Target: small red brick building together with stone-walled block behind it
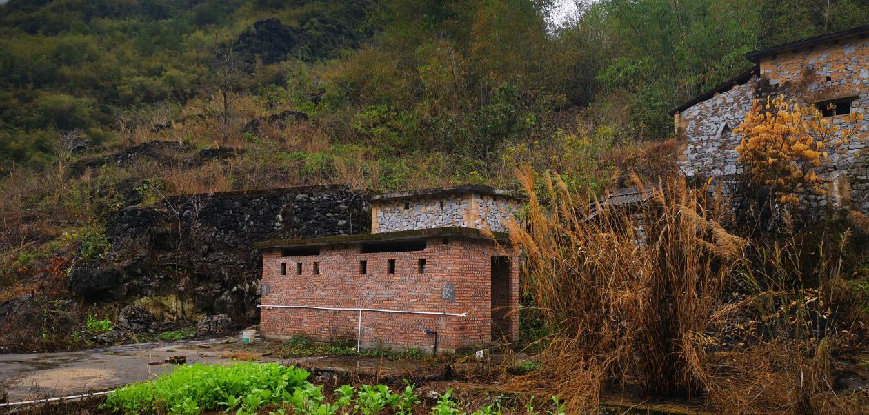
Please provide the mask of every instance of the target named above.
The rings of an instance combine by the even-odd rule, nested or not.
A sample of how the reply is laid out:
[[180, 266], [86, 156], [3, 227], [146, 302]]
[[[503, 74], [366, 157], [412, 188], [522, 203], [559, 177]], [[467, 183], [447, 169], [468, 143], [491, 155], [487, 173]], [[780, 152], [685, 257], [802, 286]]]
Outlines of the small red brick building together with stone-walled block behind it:
[[518, 250], [503, 232], [514, 196], [461, 186], [371, 205], [371, 234], [255, 244], [263, 336], [429, 351], [516, 339]]

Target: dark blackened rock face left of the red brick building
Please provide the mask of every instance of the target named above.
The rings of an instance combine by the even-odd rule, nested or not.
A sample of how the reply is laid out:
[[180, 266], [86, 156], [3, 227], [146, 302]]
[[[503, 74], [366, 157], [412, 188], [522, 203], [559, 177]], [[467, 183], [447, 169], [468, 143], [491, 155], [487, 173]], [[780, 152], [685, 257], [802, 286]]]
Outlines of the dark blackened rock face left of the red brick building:
[[368, 232], [365, 197], [340, 186], [280, 188], [168, 198], [106, 218], [111, 248], [79, 260], [67, 287], [89, 301], [173, 294], [196, 313], [256, 318], [259, 240]]

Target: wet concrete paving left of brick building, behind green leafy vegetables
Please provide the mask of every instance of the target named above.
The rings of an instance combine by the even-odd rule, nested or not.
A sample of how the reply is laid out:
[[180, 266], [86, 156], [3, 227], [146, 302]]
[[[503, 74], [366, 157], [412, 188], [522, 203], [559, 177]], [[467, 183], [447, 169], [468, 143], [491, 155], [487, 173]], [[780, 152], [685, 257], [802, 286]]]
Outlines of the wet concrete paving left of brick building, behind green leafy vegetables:
[[112, 346], [76, 352], [0, 354], [0, 388], [10, 402], [104, 391], [130, 382], [154, 379], [175, 365], [149, 365], [184, 355], [188, 364], [231, 361], [225, 350], [200, 348], [237, 339], [208, 339]]

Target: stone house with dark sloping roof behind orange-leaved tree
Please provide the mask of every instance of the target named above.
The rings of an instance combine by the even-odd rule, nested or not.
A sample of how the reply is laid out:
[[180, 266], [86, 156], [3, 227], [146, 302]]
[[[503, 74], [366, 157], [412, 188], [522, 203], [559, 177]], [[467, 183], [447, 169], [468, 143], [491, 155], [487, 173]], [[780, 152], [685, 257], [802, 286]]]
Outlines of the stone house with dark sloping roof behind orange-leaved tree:
[[754, 99], [784, 91], [783, 86], [799, 88], [789, 96], [816, 105], [840, 128], [855, 131], [817, 172], [826, 178], [826, 194], [806, 194], [805, 198], [812, 208], [832, 205], [869, 212], [869, 118], [852, 125], [844, 117], [869, 109], [867, 35], [869, 26], [862, 26], [749, 52], [746, 57], [754, 63], [752, 69], [671, 111], [677, 133], [684, 134], [677, 148], [681, 171], [734, 183], [743, 172], [736, 152], [740, 136], [733, 129], [739, 127]]

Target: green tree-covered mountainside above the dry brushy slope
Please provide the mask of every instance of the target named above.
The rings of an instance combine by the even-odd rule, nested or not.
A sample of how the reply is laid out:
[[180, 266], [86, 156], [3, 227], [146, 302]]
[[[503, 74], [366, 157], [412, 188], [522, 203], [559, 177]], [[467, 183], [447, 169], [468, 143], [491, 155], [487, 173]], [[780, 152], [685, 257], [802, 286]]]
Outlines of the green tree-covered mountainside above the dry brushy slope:
[[[667, 109], [745, 69], [746, 51], [869, 15], [859, 0], [578, 3], [552, 27], [547, 0], [12, 0], [0, 162], [56, 161], [70, 131], [86, 151], [123, 147], [185, 115], [221, 131], [137, 140], [238, 144], [249, 119], [291, 110], [328, 138], [315, 154], [425, 152], [487, 180], [546, 153], [533, 143], [557, 157], [576, 134], [667, 139]], [[556, 166], [573, 167], [541, 164]]]

